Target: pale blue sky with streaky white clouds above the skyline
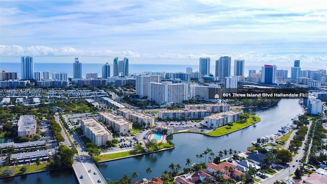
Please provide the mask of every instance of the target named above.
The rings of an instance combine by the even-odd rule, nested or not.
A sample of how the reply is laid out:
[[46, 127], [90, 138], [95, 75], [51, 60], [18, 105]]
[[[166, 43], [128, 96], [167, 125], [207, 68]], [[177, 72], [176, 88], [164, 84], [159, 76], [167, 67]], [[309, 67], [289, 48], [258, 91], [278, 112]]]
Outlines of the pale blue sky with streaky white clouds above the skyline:
[[36, 62], [197, 64], [230, 56], [251, 65], [327, 65], [322, 0], [2, 0], [0, 12], [2, 62], [31, 55]]

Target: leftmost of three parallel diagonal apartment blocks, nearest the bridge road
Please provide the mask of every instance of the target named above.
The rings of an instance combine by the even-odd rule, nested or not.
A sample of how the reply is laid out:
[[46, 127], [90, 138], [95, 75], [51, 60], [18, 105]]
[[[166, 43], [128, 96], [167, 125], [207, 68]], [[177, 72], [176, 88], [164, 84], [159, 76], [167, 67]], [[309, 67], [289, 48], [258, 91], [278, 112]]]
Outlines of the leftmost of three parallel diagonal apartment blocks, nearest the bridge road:
[[103, 146], [111, 141], [112, 133], [99, 121], [92, 118], [83, 118], [81, 128], [88, 139], [97, 146]]

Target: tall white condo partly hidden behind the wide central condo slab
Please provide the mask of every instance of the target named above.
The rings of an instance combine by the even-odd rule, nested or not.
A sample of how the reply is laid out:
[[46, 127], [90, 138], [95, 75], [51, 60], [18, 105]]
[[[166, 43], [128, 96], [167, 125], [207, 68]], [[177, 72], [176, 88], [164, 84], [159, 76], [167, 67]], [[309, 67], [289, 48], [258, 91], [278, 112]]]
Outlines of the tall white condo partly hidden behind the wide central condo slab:
[[138, 75], [136, 76], [136, 95], [147, 97], [149, 95], [149, 82], [161, 82], [161, 75]]

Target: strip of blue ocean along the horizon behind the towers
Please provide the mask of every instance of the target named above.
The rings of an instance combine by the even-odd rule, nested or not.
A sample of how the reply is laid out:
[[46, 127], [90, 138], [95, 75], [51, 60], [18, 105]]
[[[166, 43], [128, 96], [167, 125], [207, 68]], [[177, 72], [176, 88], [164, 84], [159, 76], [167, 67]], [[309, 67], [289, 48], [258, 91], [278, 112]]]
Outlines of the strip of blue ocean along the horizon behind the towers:
[[[85, 78], [86, 73], [98, 73], [98, 77], [102, 76], [103, 63], [82, 63], [82, 78]], [[143, 72], [186, 72], [187, 67], [192, 67], [193, 72], [199, 71], [199, 65], [194, 64], [131, 64], [129, 63], [129, 74], [139, 74]], [[249, 66], [245, 65], [244, 75], [248, 76], [249, 70], [261, 71], [262, 66]], [[230, 74], [233, 75], [233, 65], [231, 65]], [[215, 75], [215, 65], [210, 66], [211, 74]], [[302, 70], [319, 70], [320, 67], [301, 67]], [[18, 78], [20, 78], [20, 63], [19, 62], [0, 62], [0, 71], [17, 72]], [[288, 70], [288, 77], [291, 76], [291, 66], [277, 66], [277, 70]], [[45, 63], [34, 62], [34, 71], [41, 72], [41, 78], [43, 77], [43, 71], [49, 71], [50, 79], [54, 72], [67, 73], [68, 77], [73, 77], [73, 63]], [[110, 75], [113, 74], [112, 63], [110, 63]]]

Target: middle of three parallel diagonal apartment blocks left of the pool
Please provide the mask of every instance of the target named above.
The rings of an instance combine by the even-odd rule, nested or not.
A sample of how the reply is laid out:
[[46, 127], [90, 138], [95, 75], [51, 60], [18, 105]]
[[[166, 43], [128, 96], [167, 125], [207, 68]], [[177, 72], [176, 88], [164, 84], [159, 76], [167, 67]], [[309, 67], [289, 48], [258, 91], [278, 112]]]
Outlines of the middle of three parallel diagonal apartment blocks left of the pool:
[[128, 131], [133, 128], [133, 124], [124, 119], [124, 117], [116, 116], [110, 112], [99, 112], [99, 120], [122, 135], [127, 135]]

